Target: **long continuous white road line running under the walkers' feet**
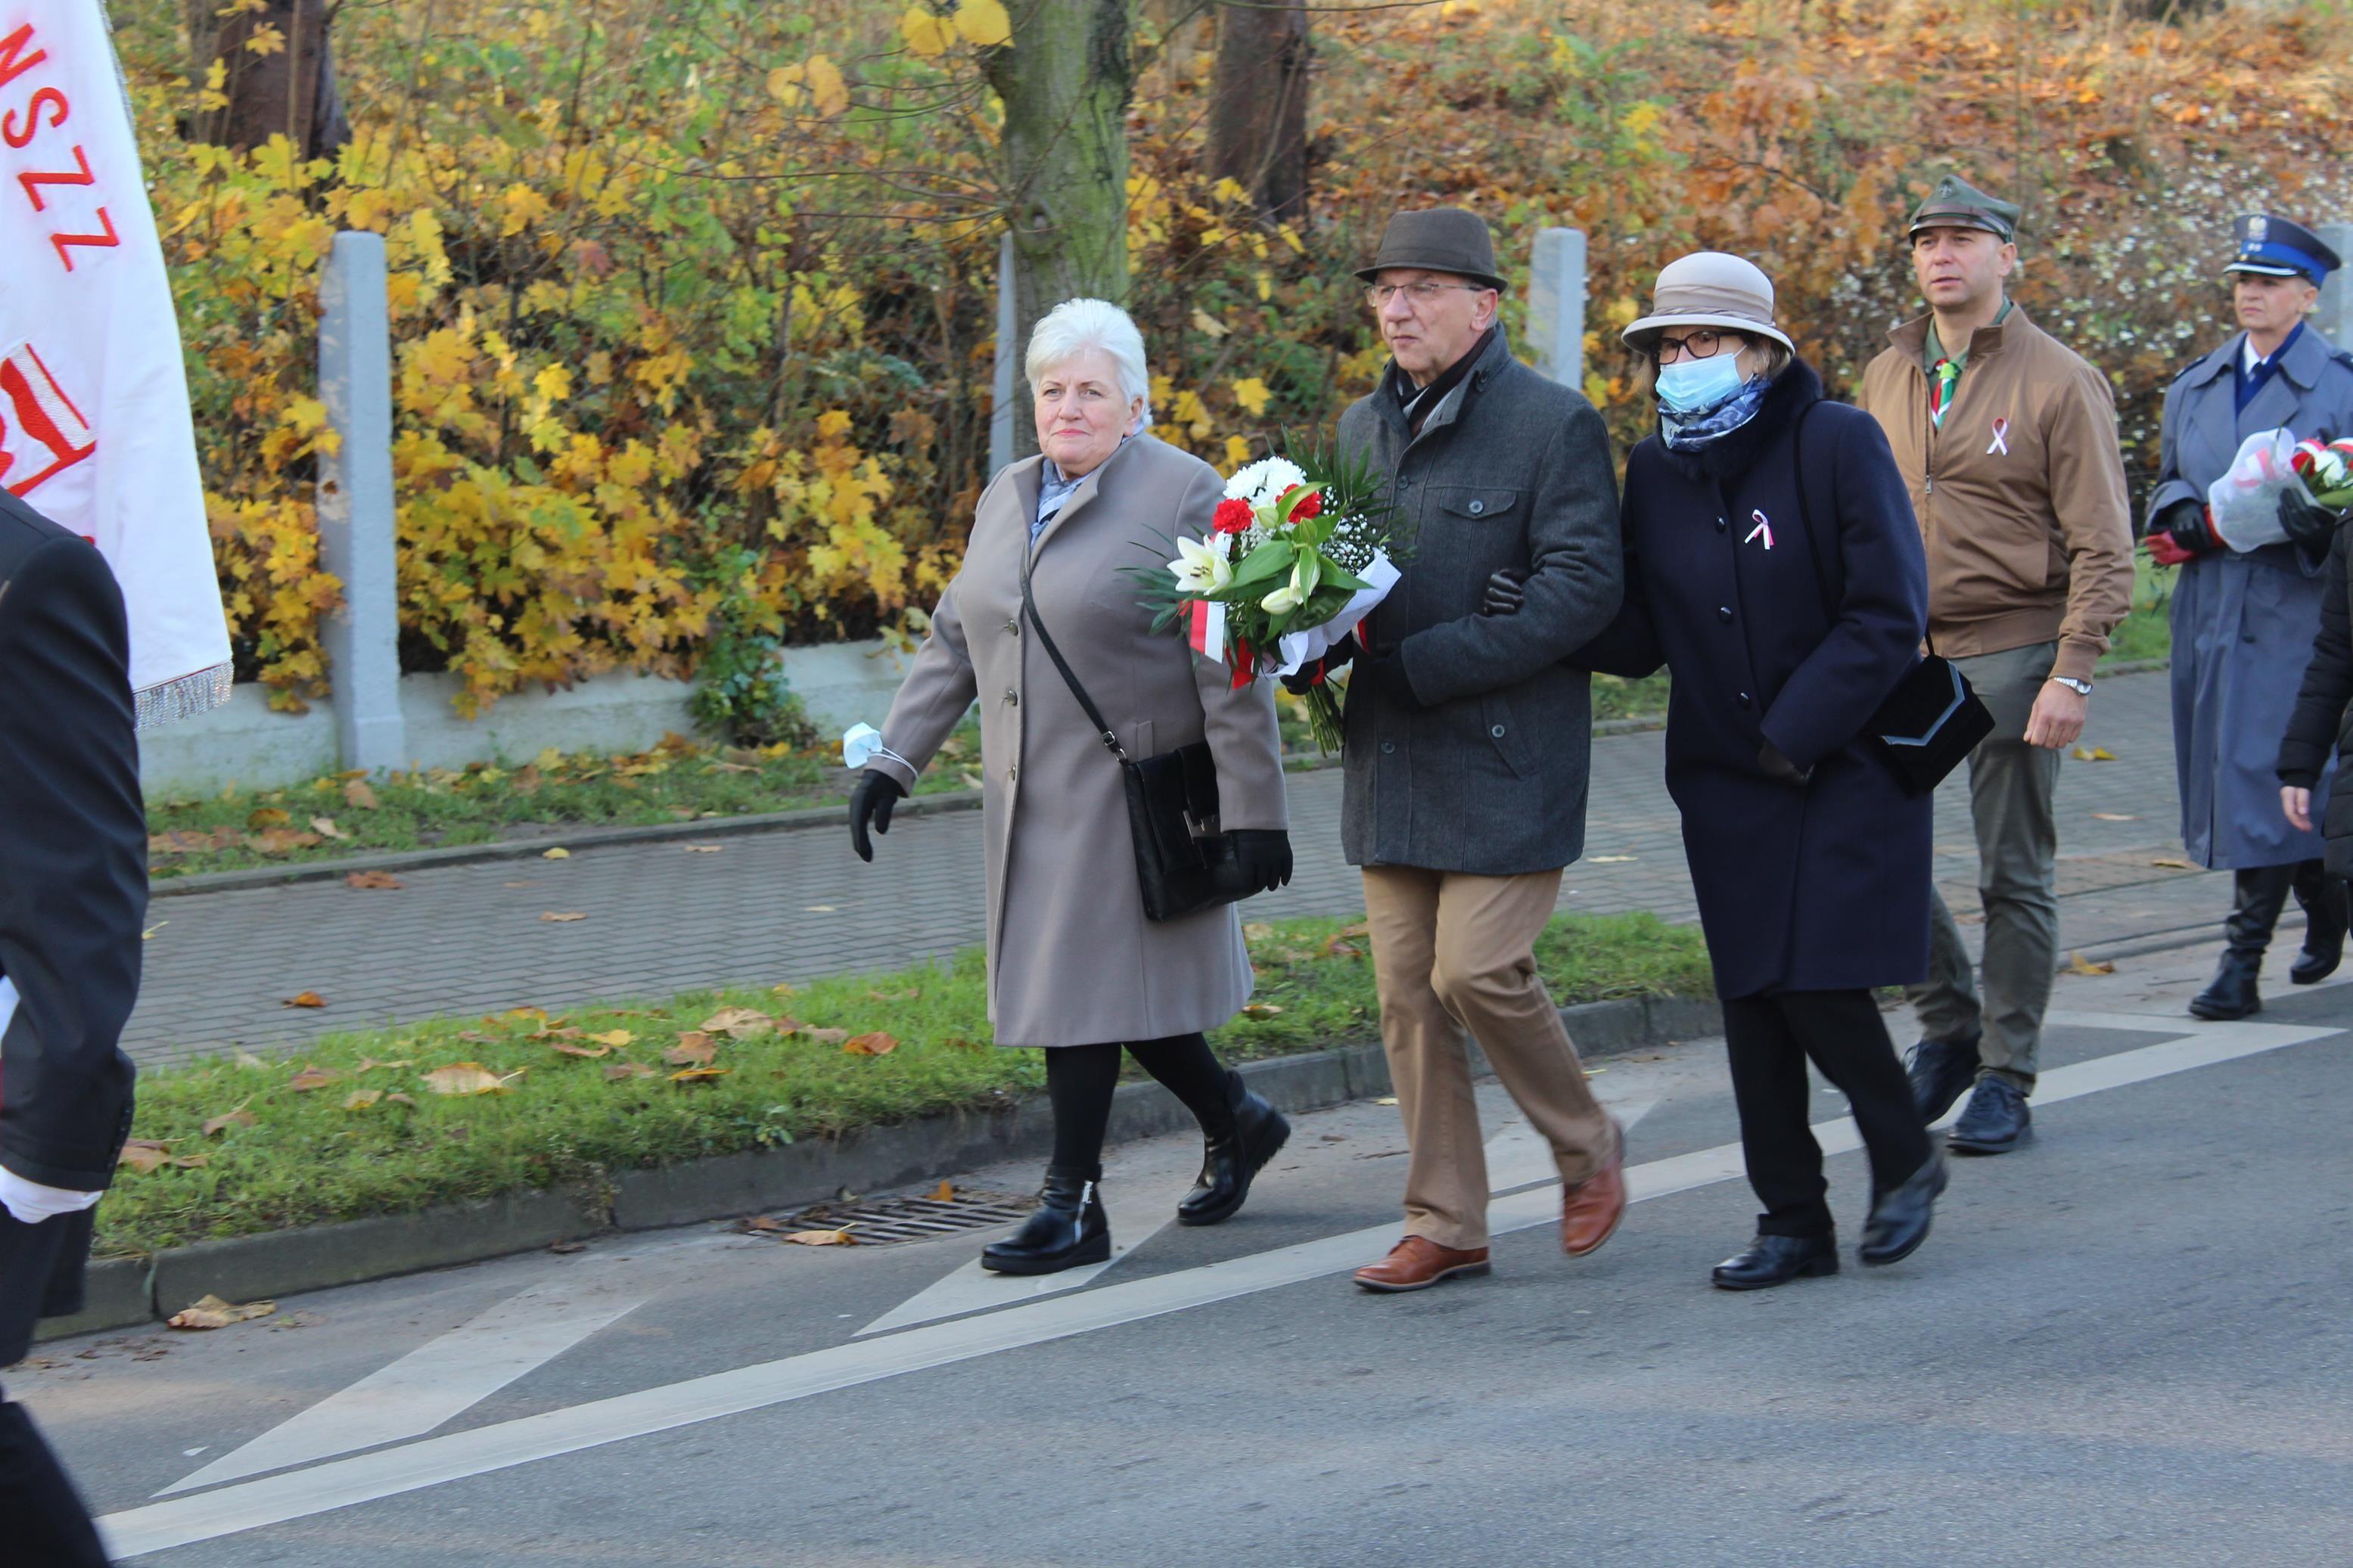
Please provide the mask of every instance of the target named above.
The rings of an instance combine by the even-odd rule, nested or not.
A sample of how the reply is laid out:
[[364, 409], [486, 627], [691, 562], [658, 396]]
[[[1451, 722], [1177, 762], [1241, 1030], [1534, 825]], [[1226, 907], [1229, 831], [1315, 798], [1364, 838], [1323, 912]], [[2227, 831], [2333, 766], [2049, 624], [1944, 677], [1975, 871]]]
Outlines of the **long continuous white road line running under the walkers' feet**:
[[[2099, 1023], [2092, 1023], [2099, 1018]], [[2132, 1018], [2132, 1023], [2122, 1023]], [[2120, 1051], [2115, 1056], [2054, 1067], [2035, 1084], [2035, 1100], [2054, 1105], [2078, 1095], [2144, 1084], [2148, 1079], [2212, 1067], [2282, 1046], [2299, 1046], [2313, 1039], [2344, 1034], [2344, 1027], [2224, 1023], [2184, 1025], [2151, 1020], [2144, 1016], [2054, 1016], [2052, 1023], [2082, 1027], [2129, 1027], [2148, 1032], [2162, 1027], [2179, 1032], [2177, 1039]], [[1814, 1128], [1814, 1138], [1826, 1154], [1854, 1150], [1859, 1138], [1847, 1119], [1826, 1121]], [[1671, 1159], [1654, 1159], [1626, 1171], [1628, 1197], [1645, 1201], [1689, 1192], [1741, 1175], [1741, 1150], [1737, 1143]], [[1532, 1187], [1501, 1197], [1489, 1206], [1489, 1229], [1508, 1234], [1558, 1218], [1558, 1201], [1551, 1187]], [[856, 1387], [880, 1378], [896, 1378], [934, 1366], [988, 1356], [1000, 1349], [1045, 1345], [1096, 1328], [1115, 1328], [1188, 1307], [1205, 1307], [1257, 1291], [1275, 1291], [1325, 1274], [1339, 1274], [1369, 1258], [1379, 1258], [1395, 1239], [1395, 1225], [1372, 1225], [1344, 1237], [1304, 1241], [1249, 1258], [1231, 1258], [1176, 1274], [1155, 1274], [1127, 1284], [1101, 1286], [1078, 1295], [1059, 1295], [1007, 1312], [958, 1319], [911, 1328], [906, 1333], [852, 1340], [831, 1349], [819, 1349], [781, 1361], [692, 1378], [666, 1387], [595, 1399], [567, 1410], [525, 1415], [520, 1420], [452, 1432], [381, 1453], [348, 1460], [332, 1460], [313, 1469], [266, 1476], [224, 1486], [200, 1497], [174, 1502], [151, 1502], [146, 1507], [108, 1514], [99, 1521], [108, 1554], [115, 1559], [167, 1552], [200, 1540], [219, 1540], [242, 1530], [306, 1519], [379, 1497], [464, 1481], [494, 1469], [529, 1465], [562, 1453], [579, 1453], [600, 1443], [616, 1443], [654, 1432], [671, 1432], [722, 1415], [741, 1415], [812, 1394]]]

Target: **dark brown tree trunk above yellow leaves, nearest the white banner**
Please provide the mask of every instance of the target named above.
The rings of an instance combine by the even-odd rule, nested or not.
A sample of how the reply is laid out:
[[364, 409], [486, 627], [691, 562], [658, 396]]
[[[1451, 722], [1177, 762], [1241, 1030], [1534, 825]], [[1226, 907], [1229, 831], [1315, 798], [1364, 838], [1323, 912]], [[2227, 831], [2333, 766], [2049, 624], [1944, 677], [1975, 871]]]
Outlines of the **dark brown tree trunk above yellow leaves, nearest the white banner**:
[[[287, 136], [304, 158], [334, 153], [351, 141], [344, 99], [334, 85], [329, 0], [266, 0], [261, 9], [219, 16], [209, 0], [188, 0], [188, 45], [198, 71], [221, 61], [228, 106], [198, 118], [193, 136], [238, 148]], [[275, 45], [256, 54], [247, 45], [275, 33]]]

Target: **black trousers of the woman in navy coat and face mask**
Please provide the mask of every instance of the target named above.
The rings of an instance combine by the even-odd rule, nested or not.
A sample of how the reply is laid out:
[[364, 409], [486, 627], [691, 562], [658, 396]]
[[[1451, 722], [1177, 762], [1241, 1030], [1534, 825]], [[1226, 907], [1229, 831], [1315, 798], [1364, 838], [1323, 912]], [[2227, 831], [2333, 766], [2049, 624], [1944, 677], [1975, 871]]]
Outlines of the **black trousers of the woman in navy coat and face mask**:
[[1871, 992], [1781, 992], [1725, 1001], [1732, 1098], [1741, 1110], [1741, 1154], [1765, 1213], [1762, 1237], [1828, 1237], [1828, 1182], [1807, 1121], [1812, 1058], [1831, 1079], [1871, 1154], [1873, 1197], [1899, 1187], [1929, 1157], [1927, 1128], [1887, 1039]]

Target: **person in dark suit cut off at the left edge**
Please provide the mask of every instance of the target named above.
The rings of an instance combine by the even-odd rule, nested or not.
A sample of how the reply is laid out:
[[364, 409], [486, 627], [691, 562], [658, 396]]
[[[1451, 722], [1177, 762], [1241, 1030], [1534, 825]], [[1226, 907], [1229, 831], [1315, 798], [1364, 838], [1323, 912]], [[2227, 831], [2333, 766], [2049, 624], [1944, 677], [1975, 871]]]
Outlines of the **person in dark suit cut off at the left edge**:
[[[82, 1307], [92, 1204], [132, 1126], [146, 813], [122, 592], [0, 491], [0, 1366]], [[0, 1403], [7, 1561], [106, 1563], [21, 1406]]]

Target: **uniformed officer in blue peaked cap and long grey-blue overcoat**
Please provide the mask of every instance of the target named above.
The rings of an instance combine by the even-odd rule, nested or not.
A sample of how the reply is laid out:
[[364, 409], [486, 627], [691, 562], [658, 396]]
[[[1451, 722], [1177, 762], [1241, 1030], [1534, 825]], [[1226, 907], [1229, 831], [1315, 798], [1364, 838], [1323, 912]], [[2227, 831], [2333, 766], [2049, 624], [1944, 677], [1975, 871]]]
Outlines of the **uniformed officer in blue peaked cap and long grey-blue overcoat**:
[[[2238, 552], [2217, 538], [2205, 505], [2249, 435], [2353, 435], [2353, 355], [2304, 320], [2341, 263], [2315, 233], [2271, 214], [2238, 219], [2235, 249], [2226, 270], [2240, 331], [2165, 390], [2148, 498], [2151, 557], [2181, 569], [2172, 611], [2181, 844], [2200, 865], [2235, 872], [2221, 966], [2191, 1001], [2200, 1018], [2264, 1006], [2254, 980], [2289, 891], [2306, 919], [2289, 980], [2332, 973], [2346, 940], [2346, 886], [2325, 875], [2320, 837], [2282, 818], [2273, 776], [2320, 630], [2320, 564], [2337, 520], [2287, 491], [2287, 543]], [[2320, 809], [2327, 778], [2315, 795]]]

